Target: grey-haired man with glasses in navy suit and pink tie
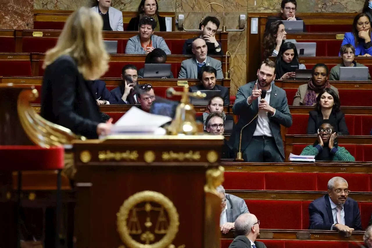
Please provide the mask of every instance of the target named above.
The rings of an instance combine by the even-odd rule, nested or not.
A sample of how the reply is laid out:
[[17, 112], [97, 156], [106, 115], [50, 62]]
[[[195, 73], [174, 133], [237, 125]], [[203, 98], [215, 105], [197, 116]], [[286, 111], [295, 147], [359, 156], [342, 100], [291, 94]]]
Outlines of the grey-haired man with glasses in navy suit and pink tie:
[[350, 236], [362, 230], [358, 203], [350, 197], [347, 181], [333, 177], [328, 181], [328, 194], [309, 205], [310, 230], [338, 230]]

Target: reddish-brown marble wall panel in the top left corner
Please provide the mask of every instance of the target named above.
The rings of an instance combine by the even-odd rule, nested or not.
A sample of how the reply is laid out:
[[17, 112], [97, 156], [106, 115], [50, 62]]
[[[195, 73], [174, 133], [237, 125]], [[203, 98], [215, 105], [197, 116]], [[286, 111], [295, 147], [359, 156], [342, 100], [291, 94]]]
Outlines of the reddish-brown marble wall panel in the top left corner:
[[1, 1], [0, 29], [32, 29], [33, 0]]

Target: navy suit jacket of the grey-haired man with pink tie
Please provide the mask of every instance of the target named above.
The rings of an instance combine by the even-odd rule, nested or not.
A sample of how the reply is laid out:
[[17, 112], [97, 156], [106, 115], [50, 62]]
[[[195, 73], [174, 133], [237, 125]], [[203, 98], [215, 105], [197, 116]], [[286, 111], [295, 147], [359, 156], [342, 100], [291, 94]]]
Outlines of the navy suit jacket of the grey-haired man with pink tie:
[[[354, 228], [356, 231], [362, 230], [360, 223], [360, 212], [358, 203], [350, 197], [347, 197], [344, 204], [345, 225]], [[314, 200], [309, 205], [310, 230], [331, 230], [333, 215], [330, 198], [324, 195]]]

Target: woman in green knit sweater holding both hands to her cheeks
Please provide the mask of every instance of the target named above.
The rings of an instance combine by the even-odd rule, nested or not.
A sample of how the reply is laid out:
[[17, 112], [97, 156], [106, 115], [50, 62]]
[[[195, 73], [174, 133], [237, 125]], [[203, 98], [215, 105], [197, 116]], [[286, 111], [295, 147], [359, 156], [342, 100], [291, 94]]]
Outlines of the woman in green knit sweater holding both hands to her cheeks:
[[301, 155], [315, 156], [315, 161], [355, 161], [345, 147], [338, 146], [337, 133], [327, 121], [324, 120], [318, 128], [318, 140], [305, 147]]

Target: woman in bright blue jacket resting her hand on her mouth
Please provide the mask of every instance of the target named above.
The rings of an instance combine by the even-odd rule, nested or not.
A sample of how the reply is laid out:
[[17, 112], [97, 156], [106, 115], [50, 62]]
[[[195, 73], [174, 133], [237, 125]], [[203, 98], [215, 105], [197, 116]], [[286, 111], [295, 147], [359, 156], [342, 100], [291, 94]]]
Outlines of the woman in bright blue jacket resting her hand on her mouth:
[[351, 44], [355, 47], [356, 56], [362, 55], [363, 57], [371, 57], [371, 19], [367, 14], [360, 13], [355, 16], [353, 31], [345, 33], [341, 47], [346, 44]]

